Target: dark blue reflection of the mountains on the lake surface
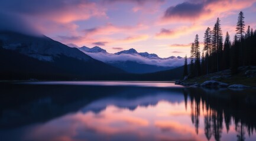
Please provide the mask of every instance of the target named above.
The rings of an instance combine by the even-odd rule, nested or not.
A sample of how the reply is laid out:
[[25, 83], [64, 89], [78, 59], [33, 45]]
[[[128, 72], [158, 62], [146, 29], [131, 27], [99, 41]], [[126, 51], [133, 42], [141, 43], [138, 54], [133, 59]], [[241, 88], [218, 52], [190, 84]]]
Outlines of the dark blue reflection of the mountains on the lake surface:
[[[181, 102], [182, 89], [131, 86], [1, 85], [0, 129], [45, 122], [70, 112], [104, 110], [108, 105], [134, 110], [159, 100]], [[23, 93], [21, 93], [23, 92]], [[173, 99], [171, 95], [179, 95]]]

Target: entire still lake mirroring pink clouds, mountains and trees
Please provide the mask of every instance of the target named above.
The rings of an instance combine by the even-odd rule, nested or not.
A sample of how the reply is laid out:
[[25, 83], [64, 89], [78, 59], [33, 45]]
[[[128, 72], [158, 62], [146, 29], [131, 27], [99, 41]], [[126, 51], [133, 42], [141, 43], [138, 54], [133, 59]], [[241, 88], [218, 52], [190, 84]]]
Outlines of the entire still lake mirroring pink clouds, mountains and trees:
[[0, 140], [256, 140], [256, 91], [150, 82], [0, 84]]

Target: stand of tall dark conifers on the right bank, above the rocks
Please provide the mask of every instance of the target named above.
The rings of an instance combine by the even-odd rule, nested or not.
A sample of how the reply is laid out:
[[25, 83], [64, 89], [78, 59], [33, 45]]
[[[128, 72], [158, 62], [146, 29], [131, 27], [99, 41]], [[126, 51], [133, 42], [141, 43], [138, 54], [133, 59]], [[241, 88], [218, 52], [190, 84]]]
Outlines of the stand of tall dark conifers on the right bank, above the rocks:
[[205, 31], [202, 55], [199, 50], [199, 37], [196, 35], [191, 46], [190, 78], [225, 69], [231, 69], [231, 74], [235, 75], [239, 66], [256, 65], [256, 31], [250, 26], [245, 29], [244, 18], [244, 13], [239, 12], [233, 41], [228, 32], [223, 38], [221, 20], [217, 18], [213, 29], [208, 27]]

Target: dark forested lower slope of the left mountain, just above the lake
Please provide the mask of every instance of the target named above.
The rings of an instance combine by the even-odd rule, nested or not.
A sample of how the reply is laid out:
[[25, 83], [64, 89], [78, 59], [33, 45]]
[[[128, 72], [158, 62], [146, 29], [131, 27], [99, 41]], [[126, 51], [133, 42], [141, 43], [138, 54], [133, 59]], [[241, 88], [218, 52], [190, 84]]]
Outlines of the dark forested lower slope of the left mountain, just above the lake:
[[0, 48], [0, 64], [2, 80], [92, 79], [95, 76], [124, 73], [100, 61], [85, 62], [62, 55], [54, 58], [54, 62], [46, 62], [3, 48]]

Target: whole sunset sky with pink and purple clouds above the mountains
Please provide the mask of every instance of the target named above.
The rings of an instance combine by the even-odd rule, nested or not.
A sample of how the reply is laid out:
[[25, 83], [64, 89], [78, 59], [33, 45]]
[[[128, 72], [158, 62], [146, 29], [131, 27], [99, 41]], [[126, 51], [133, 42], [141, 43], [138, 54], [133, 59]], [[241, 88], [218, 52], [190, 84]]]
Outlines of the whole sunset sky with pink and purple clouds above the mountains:
[[0, 29], [43, 33], [111, 53], [134, 48], [184, 56], [196, 33], [202, 42], [218, 17], [223, 34], [233, 38], [239, 11], [246, 27], [256, 29], [256, 0], [9, 0], [0, 2]]

